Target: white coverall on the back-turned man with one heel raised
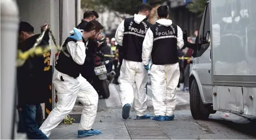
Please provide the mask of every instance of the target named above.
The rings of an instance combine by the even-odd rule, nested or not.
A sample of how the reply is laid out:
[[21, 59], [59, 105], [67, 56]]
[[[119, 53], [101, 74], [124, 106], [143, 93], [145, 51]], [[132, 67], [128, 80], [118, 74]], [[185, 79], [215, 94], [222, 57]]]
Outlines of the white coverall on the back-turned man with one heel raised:
[[[140, 24], [146, 16], [134, 15], [134, 21]], [[122, 46], [124, 33], [124, 20], [116, 30], [116, 42]], [[120, 69], [120, 99], [122, 106], [130, 104], [135, 109], [137, 116], [146, 115], [147, 110], [147, 74], [141, 62], [128, 61], [123, 59]], [[135, 84], [135, 89], [133, 88]], [[134, 103], [134, 104], [133, 104]]]

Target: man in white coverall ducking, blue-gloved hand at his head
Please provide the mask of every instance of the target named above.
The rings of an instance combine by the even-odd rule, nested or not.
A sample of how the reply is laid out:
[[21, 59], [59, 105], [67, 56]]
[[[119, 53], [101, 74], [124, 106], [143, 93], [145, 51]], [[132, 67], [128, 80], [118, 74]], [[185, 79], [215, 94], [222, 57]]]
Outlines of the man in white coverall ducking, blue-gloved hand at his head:
[[97, 38], [102, 29], [101, 23], [90, 21], [82, 32], [73, 28], [74, 34], [64, 42], [53, 75], [53, 85], [58, 91], [57, 106], [40, 127], [46, 136], [49, 137], [51, 130], [70, 114], [76, 99], [84, 105], [78, 137], [102, 134], [101, 131], [92, 129], [97, 114], [98, 94], [80, 74], [86, 57], [85, 49], [88, 49], [88, 39]]

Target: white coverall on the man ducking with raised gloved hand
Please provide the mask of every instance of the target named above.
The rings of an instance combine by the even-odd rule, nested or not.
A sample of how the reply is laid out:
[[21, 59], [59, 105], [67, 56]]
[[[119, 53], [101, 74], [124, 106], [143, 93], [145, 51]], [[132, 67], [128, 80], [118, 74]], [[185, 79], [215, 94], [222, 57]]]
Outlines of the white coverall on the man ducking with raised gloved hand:
[[[86, 42], [87, 45], [88, 42]], [[86, 46], [83, 42], [75, 43], [73, 41], [68, 42], [66, 45], [73, 61], [79, 65], [84, 64]], [[64, 81], [61, 81], [61, 76]], [[51, 111], [45, 122], [43, 122], [40, 130], [49, 137], [51, 130], [58, 126], [64, 117], [70, 114], [76, 99], [84, 105], [78, 130], [91, 130], [96, 118], [98, 106], [98, 94], [92, 85], [81, 75], [74, 79], [71, 76], [59, 72], [55, 68], [53, 85], [58, 91], [57, 106]]]

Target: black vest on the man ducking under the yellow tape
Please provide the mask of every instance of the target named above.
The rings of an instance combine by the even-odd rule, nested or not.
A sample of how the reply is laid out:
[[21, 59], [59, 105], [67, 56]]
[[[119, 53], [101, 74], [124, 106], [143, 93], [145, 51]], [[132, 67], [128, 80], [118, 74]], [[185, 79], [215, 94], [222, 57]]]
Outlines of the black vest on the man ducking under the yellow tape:
[[[80, 75], [82, 65], [74, 62], [72, 56], [67, 51], [67, 43], [70, 41], [77, 42], [76, 40], [69, 37], [65, 40], [62, 46], [62, 50], [60, 51], [59, 58], [57, 59], [55, 68], [63, 74], [77, 78]], [[83, 42], [85, 42], [84, 39]]]

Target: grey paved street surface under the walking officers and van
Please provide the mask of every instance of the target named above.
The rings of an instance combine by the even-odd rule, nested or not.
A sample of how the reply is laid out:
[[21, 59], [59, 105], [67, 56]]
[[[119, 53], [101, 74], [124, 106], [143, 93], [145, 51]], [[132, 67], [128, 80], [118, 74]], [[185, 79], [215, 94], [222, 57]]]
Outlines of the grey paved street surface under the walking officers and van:
[[[151, 90], [148, 88], [148, 113], [153, 115]], [[51, 139], [255, 139], [255, 123], [238, 115], [230, 114], [223, 118], [224, 112], [210, 115], [207, 121], [194, 120], [189, 109], [174, 111], [175, 119], [168, 122], [155, 122], [151, 119], [136, 120], [134, 111], [130, 119], [121, 116], [121, 102], [118, 86], [110, 85], [109, 99], [99, 99], [98, 114], [93, 129], [104, 134], [77, 138], [78, 124], [59, 125], [52, 131]], [[188, 93], [177, 92], [179, 104], [188, 104]], [[179, 99], [178, 99], [179, 98]], [[72, 117], [79, 121], [80, 106], [76, 105]]]

